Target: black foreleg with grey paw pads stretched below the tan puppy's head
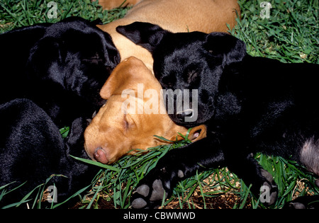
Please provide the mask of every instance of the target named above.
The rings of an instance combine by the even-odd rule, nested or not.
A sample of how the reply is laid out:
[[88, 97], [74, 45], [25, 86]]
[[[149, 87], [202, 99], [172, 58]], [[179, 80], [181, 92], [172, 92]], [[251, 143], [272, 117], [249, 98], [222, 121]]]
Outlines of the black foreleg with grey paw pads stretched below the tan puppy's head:
[[218, 144], [217, 139], [213, 142], [207, 137], [186, 147], [169, 151], [140, 181], [133, 194], [132, 207], [136, 209], [159, 207], [162, 199], [172, 194], [178, 181], [194, 176], [197, 170], [223, 164], [223, 152], [216, 149], [219, 148]]

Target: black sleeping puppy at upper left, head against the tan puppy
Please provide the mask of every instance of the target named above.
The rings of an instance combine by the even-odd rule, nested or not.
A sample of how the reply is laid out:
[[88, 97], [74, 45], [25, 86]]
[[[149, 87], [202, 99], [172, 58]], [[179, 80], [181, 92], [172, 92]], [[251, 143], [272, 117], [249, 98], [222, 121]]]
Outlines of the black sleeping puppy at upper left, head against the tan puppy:
[[59, 127], [91, 118], [104, 103], [101, 87], [120, 61], [110, 35], [78, 17], [3, 33], [0, 48], [0, 103], [28, 98]]

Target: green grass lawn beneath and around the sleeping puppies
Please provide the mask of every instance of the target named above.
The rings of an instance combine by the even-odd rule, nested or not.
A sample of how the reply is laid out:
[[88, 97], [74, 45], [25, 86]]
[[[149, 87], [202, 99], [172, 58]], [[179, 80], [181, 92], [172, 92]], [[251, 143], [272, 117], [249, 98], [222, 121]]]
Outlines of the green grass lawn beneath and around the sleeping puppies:
[[[240, 0], [242, 18], [230, 33], [246, 42], [250, 55], [279, 59], [281, 62], [319, 64], [318, 1], [269, 0], [272, 4], [269, 18], [262, 18], [262, 1]], [[109, 23], [123, 17], [127, 11], [123, 8], [103, 11], [96, 2], [90, 0], [55, 0], [57, 18], [48, 18], [48, 2], [1, 0], [0, 33], [24, 25], [54, 23], [68, 16], [81, 16], [89, 20], [101, 18], [103, 23]], [[138, 181], [169, 149], [186, 143], [187, 139], [170, 146], [151, 148], [147, 154], [125, 156], [113, 166], [100, 165], [101, 171], [93, 179], [91, 190], [79, 196], [79, 203], [74, 208], [129, 208], [130, 195]], [[255, 158], [272, 173], [279, 187], [276, 204], [268, 208], [281, 208], [286, 201], [301, 195], [319, 195], [319, 188], [314, 184], [315, 176], [302, 166], [281, 157], [256, 154]], [[41, 186], [44, 188], [44, 185]], [[0, 199], [5, 190], [0, 188]], [[29, 203], [30, 207], [39, 207], [36, 200]], [[198, 172], [196, 176], [181, 181], [172, 197], [163, 204], [164, 208], [189, 209], [265, 208], [252, 196], [249, 185], [245, 185], [225, 167]]]

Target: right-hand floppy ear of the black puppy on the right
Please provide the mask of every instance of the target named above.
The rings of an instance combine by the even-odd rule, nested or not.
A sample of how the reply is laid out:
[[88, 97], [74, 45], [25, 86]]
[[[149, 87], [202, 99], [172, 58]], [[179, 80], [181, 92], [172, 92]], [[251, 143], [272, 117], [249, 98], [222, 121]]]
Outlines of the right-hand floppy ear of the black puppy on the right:
[[208, 34], [205, 48], [212, 55], [224, 55], [226, 64], [240, 62], [247, 54], [245, 42], [227, 33]]

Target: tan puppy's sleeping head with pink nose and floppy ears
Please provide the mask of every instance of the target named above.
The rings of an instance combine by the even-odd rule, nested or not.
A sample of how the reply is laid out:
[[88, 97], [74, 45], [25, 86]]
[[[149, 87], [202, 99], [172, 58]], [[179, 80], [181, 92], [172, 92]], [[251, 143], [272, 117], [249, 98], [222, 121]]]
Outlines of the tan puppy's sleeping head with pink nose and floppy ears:
[[[127, 98], [122, 98], [121, 94], [125, 89], [132, 89], [135, 92], [134, 99], [140, 105], [150, 100], [145, 96], [138, 98], [138, 84], [141, 83], [143, 84], [143, 93], [147, 89], [160, 92], [162, 88], [152, 72], [145, 67], [140, 59], [135, 57], [126, 59], [113, 70], [101, 89], [101, 96], [108, 101], [84, 132], [85, 149], [91, 159], [94, 159], [96, 149], [102, 148], [107, 157], [106, 163], [113, 163], [121, 156], [128, 154], [131, 149], [147, 149], [159, 144], [168, 144], [154, 135], [169, 140], [177, 139], [179, 136], [177, 132], [186, 135], [187, 129], [174, 124], [165, 108], [162, 109], [165, 111], [164, 114], [161, 114], [159, 110], [157, 114], [125, 115], [123, 113], [121, 106]], [[160, 98], [159, 94], [159, 103], [161, 102]], [[158, 105], [158, 108], [160, 106], [164, 107], [162, 103]], [[200, 134], [197, 136], [198, 132]], [[189, 139], [193, 139], [193, 141], [203, 137], [206, 137], [205, 125], [194, 127], [189, 134]], [[130, 152], [130, 154], [132, 153], [134, 151]], [[103, 159], [99, 161], [103, 162]]]

